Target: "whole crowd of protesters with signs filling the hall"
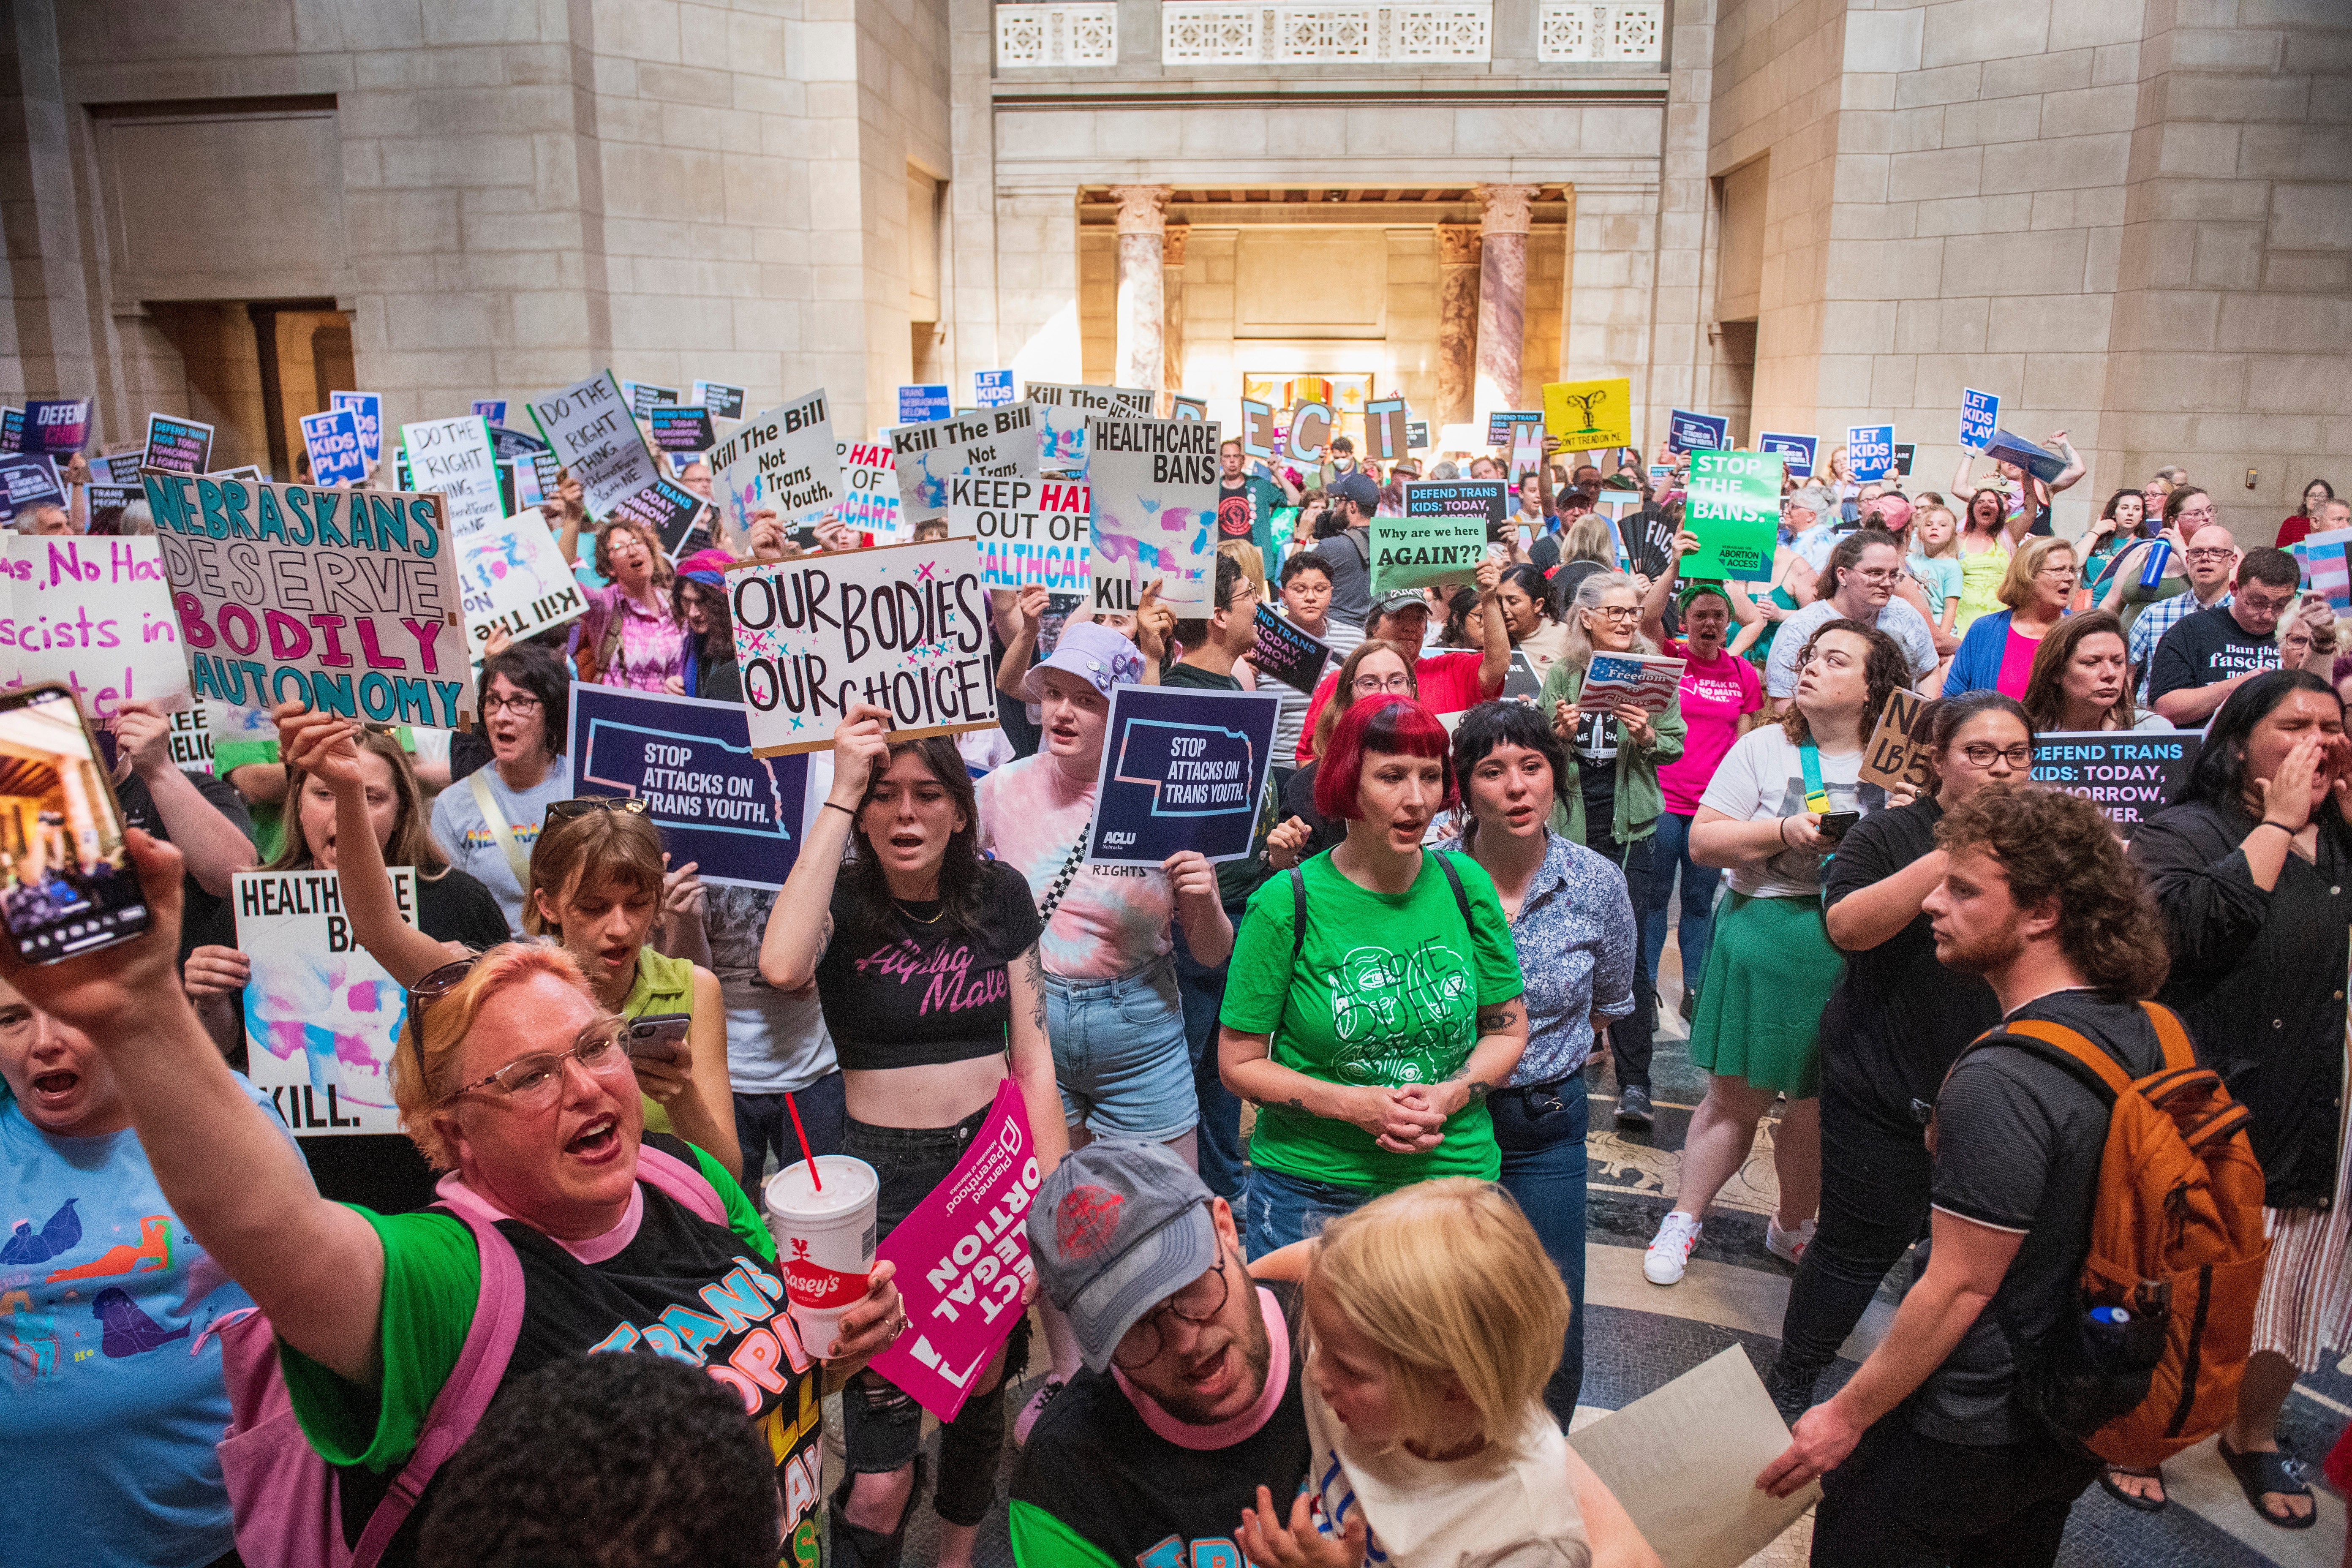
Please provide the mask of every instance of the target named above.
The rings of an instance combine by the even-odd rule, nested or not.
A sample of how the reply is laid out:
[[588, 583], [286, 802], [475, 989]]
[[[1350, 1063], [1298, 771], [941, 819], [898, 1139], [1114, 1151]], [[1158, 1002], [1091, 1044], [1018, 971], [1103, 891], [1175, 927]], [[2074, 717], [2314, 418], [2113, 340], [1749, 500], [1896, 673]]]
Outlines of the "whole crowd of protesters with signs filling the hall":
[[[1750, 1497], [1748, 1552], [2030, 1566], [2213, 1436], [2317, 1523], [2324, 480], [2272, 543], [2098, 475], [2065, 538], [2065, 433], [1929, 489], [1891, 425], [727, 390], [336, 393], [285, 480], [158, 416], [19, 505], [183, 651], [21, 670], [101, 755], [0, 823], [0, 1556], [964, 1568], [1002, 1507], [1025, 1568], [1632, 1568]], [[207, 555], [273, 529], [416, 567], [414, 668]], [[1675, 1472], [1719, 1521], [1569, 1434], [1588, 1143], [1682, 1112], [1649, 1288], [1759, 1128], [1792, 1269], [1764, 1446]]]

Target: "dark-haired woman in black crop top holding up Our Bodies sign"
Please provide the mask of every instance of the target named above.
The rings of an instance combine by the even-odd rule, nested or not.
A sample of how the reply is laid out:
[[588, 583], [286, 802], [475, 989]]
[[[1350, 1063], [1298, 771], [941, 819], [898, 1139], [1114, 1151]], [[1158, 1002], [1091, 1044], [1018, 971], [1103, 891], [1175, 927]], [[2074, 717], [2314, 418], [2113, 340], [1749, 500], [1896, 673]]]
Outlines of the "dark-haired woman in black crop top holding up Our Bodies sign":
[[[833, 792], [767, 919], [760, 978], [816, 985], [849, 1095], [842, 1152], [882, 1178], [887, 1237], [964, 1157], [1007, 1074], [1044, 1171], [1068, 1131], [1028, 882], [981, 858], [981, 813], [955, 743], [891, 743], [884, 722], [884, 710], [858, 705], [833, 731]], [[1004, 1366], [1025, 1359], [1023, 1321], [941, 1434], [941, 1563], [971, 1561], [1004, 1448]], [[861, 1373], [842, 1413], [849, 1479], [833, 1497], [833, 1561], [896, 1563], [922, 1406]]]

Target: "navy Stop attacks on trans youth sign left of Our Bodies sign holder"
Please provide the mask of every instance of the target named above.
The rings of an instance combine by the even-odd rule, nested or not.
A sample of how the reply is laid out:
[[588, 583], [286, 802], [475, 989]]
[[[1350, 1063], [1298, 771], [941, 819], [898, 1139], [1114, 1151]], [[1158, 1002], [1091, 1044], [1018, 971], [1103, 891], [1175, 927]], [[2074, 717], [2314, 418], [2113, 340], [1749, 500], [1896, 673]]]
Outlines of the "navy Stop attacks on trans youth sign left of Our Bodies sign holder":
[[743, 703], [572, 682], [572, 795], [642, 799], [670, 865], [781, 889], [800, 856], [807, 757], [750, 755]]

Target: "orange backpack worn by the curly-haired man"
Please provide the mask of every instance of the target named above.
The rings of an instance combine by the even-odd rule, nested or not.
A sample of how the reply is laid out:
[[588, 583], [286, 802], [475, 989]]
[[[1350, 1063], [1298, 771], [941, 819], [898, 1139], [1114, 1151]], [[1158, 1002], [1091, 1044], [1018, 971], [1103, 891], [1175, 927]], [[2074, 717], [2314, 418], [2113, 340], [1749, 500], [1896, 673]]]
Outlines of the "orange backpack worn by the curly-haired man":
[[[2145, 1079], [2129, 1077], [2079, 1032], [2032, 1018], [1969, 1046], [2002, 1039], [2030, 1051], [2110, 1107], [2082, 1312], [2051, 1345], [2016, 1345], [2013, 1331], [2011, 1342], [2025, 1406], [2110, 1465], [2133, 1469], [2204, 1441], [2237, 1413], [2270, 1258], [2263, 1166], [2246, 1140], [2251, 1112], [2230, 1098], [2220, 1074], [2197, 1065], [2171, 1009], [2140, 1006], [2164, 1046], [2164, 1067]], [[2131, 1316], [2098, 1324], [2098, 1307]]]

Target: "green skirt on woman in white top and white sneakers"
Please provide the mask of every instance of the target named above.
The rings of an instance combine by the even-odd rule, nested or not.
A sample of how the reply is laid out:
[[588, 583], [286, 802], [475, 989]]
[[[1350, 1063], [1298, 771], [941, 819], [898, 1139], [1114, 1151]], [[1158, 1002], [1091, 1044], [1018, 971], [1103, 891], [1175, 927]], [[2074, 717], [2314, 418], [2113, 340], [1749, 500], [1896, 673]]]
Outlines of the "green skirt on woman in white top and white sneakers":
[[1846, 954], [1830, 943], [1818, 898], [1729, 893], [1708, 938], [1691, 1063], [1811, 1100], [1820, 1093], [1820, 1009], [1842, 973]]

